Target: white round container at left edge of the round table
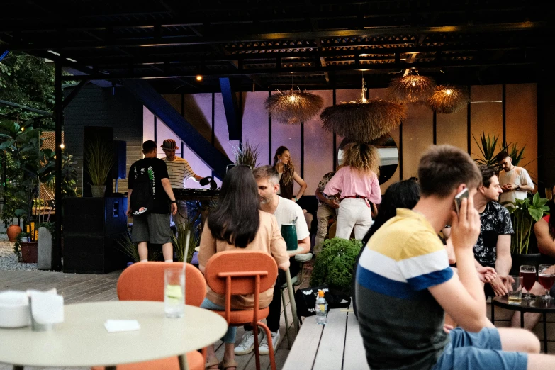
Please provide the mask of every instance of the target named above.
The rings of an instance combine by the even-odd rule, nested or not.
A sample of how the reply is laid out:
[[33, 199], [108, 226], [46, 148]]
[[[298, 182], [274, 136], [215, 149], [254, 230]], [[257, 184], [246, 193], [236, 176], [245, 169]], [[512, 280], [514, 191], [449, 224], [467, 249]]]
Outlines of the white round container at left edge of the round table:
[[30, 325], [29, 298], [24, 291], [0, 292], [0, 327]]

